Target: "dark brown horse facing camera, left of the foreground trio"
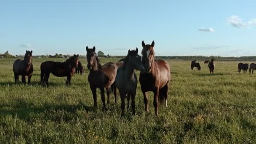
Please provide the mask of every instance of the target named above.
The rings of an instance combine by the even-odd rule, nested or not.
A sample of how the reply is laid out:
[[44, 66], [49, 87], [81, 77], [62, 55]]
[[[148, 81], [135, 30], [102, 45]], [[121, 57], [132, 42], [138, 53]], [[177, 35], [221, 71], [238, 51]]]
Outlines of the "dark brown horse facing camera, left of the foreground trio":
[[[104, 88], [107, 90], [107, 104], [109, 104], [110, 87], [115, 82], [118, 67], [115, 63], [112, 62], [101, 66], [95, 50], [95, 46], [93, 46], [93, 48], [88, 48], [88, 46], [86, 47], [86, 57], [88, 62], [87, 68], [90, 70], [88, 75], [88, 82], [93, 93], [94, 107], [97, 106], [96, 88], [99, 88], [101, 91], [101, 101], [103, 103], [102, 110], [104, 110], [106, 109]], [[115, 84], [113, 86], [115, 103], [117, 103]]]

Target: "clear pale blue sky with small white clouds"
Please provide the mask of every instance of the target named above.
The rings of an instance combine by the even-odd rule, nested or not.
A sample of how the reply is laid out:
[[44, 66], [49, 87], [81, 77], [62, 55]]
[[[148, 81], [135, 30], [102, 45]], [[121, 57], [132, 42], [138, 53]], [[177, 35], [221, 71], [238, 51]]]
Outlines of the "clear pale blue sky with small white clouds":
[[1, 0], [0, 53], [256, 55], [255, 0]]

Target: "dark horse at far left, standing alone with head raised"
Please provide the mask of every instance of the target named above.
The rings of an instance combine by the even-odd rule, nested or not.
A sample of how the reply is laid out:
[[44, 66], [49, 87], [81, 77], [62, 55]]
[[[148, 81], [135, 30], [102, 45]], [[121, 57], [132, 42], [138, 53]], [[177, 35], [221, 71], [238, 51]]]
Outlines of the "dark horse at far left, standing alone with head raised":
[[15, 83], [19, 82], [19, 75], [21, 75], [21, 80], [24, 85], [26, 85], [26, 75], [29, 77], [28, 85], [30, 85], [30, 80], [33, 74], [33, 64], [32, 64], [32, 52], [26, 51], [24, 60], [17, 59], [13, 63], [13, 72]]

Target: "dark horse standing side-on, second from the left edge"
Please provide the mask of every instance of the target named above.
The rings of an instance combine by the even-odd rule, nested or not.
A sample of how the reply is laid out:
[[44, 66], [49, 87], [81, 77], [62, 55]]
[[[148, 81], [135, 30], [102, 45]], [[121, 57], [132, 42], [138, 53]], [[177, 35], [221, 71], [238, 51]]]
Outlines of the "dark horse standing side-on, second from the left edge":
[[48, 84], [50, 73], [56, 77], [67, 77], [66, 85], [71, 85], [71, 78], [75, 74], [75, 68], [78, 66], [78, 54], [72, 56], [64, 62], [45, 61], [41, 64], [41, 84]]

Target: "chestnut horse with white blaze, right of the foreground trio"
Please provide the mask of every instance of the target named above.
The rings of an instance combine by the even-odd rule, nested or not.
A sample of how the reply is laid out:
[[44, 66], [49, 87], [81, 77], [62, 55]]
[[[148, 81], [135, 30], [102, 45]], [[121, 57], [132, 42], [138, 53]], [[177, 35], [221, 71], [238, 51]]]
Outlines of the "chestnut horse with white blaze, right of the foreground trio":
[[154, 41], [151, 45], [145, 45], [142, 41], [142, 65], [145, 72], [140, 73], [139, 82], [144, 96], [145, 111], [148, 112], [147, 92], [153, 91], [155, 115], [158, 116], [158, 100], [160, 100], [160, 103], [165, 100], [165, 106], [167, 107], [168, 82], [171, 80], [171, 72], [167, 61], [155, 60], [154, 45]]

